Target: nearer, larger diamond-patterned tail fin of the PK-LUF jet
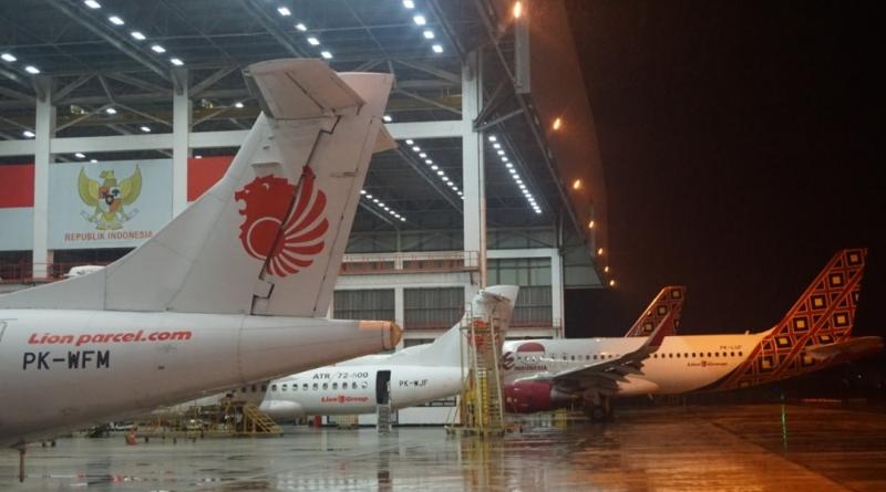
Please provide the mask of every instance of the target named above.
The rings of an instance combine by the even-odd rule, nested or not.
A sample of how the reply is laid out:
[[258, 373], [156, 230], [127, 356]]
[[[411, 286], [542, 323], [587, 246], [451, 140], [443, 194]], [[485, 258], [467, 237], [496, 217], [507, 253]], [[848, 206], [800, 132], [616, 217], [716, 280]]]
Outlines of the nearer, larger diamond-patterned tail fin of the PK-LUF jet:
[[832, 359], [816, 360], [805, 349], [849, 338], [866, 257], [867, 250], [861, 248], [837, 252], [784, 318], [717, 389], [761, 385], [832, 364]]

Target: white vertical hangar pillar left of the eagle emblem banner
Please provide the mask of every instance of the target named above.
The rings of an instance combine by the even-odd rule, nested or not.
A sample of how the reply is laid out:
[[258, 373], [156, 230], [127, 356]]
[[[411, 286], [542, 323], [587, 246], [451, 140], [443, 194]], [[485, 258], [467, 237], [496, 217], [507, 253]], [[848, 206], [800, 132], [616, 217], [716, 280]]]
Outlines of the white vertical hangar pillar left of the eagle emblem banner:
[[45, 96], [37, 100], [34, 123], [34, 207], [31, 262], [33, 276], [47, 276], [52, 262], [49, 252], [49, 166], [52, 163], [50, 142], [55, 135], [55, 106], [52, 105], [52, 78], [34, 77]]

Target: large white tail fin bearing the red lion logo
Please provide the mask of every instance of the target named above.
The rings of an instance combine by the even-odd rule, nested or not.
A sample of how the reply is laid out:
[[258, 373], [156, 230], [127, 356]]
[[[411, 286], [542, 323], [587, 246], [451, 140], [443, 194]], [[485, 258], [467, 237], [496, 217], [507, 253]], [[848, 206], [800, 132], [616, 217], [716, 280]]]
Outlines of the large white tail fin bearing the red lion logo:
[[277, 60], [246, 80], [264, 114], [212, 189], [107, 268], [0, 307], [324, 315], [392, 78]]

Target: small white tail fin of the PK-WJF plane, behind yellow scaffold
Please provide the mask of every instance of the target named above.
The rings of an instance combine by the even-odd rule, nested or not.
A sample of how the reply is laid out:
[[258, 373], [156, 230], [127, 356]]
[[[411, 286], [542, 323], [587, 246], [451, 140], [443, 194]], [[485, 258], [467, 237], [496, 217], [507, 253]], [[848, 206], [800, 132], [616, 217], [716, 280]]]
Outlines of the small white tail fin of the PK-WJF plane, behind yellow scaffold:
[[462, 344], [463, 323], [474, 318], [498, 320], [502, 333], [507, 333], [511, 316], [514, 313], [514, 303], [517, 301], [519, 287], [516, 285], [495, 285], [480, 291], [472, 301], [470, 312], [465, 312], [459, 323], [446, 333], [440, 335], [433, 343], [406, 348], [395, 354], [391, 362], [396, 364], [414, 364], [419, 366], [459, 366], [467, 360], [467, 341]]

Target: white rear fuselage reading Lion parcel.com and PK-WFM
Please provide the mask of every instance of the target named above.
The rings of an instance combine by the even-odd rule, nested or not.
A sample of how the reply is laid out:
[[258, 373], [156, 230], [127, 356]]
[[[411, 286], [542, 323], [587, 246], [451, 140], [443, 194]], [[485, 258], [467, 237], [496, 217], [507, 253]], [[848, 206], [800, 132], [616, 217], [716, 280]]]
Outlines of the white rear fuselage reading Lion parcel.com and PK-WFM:
[[[0, 446], [384, 349], [360, 322], [0, 310]], [[396, 342], [396, 341], [393, 341]]]

